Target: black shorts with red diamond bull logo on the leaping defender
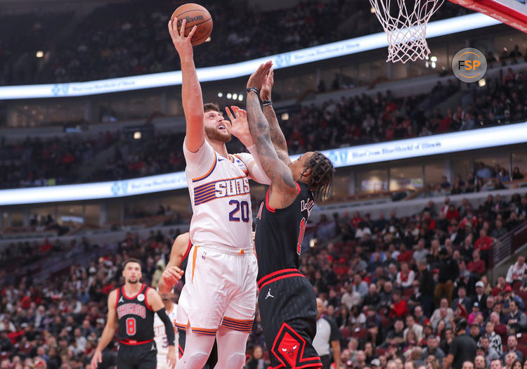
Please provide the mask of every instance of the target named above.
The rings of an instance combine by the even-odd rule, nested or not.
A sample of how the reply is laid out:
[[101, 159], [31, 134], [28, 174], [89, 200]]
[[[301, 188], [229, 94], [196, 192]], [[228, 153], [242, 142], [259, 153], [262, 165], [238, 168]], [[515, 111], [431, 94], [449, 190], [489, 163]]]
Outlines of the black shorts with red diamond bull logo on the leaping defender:
[[315, 291], [308, 279], [298, 273], [273, 273], [258, 282], [263, 337], [273, 368], [322, 367], [313, 347], [317, 324]]

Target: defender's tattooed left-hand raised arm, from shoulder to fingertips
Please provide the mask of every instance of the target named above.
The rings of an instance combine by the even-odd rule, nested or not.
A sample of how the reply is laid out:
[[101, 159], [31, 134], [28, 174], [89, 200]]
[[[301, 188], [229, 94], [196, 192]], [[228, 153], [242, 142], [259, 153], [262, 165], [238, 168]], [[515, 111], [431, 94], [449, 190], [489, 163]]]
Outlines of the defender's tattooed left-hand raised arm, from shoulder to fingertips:
[[263, 171], [271, 179], [270, 202], [287, 207], [297, 196], [297, 183], [291, 169], [280, 160], [271, 141], [271, 129], [260, 107], [258, 89], [271, 66], [261, 65], [247, 82], [247, 121]]

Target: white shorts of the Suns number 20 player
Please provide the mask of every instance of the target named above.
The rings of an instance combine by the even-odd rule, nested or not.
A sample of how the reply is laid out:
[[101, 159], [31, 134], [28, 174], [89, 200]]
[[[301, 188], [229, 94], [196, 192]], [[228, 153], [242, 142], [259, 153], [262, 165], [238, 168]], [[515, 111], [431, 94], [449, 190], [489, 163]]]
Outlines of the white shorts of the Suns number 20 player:
[[216, 335], [220, 325], [251, 332], [258, 274], [252, 248], [193, 245], [188, 257], [176, 326], [202, 335]]

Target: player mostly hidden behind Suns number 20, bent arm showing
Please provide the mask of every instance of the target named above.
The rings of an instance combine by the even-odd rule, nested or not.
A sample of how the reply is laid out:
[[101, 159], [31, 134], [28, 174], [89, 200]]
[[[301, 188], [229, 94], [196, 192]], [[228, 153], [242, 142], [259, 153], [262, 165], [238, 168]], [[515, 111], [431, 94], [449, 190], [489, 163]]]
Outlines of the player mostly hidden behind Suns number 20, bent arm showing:
[[[190, 234], [188, 232], [181, 233], [174, 240], [172, 244], [172, 250], [170, 252], [170, 260], [167, 264], [167, 267], [164, 269], [162, 277], [160, 278], [160, 283], [157, 286], [160, 290], [160, 293], [169, 293], [171, 292], [174, 285], [178, 283], [178, 280], [181, 280], [185, 284], [185, 274], [183, 271], [187, 268], [188, 264], [188, 253], [192, 247], [192, 242], [190, 242]], [[186, 342], [186, 327], [178, 328], [178, 355], [179, 358], [183, 356], [185, 351], [185, 342]], [[209, 355], [207, 363], [204, 365], [203, 369], [212, 369], [218, 362], [218, 346], [214, 342], [214, 347]]]

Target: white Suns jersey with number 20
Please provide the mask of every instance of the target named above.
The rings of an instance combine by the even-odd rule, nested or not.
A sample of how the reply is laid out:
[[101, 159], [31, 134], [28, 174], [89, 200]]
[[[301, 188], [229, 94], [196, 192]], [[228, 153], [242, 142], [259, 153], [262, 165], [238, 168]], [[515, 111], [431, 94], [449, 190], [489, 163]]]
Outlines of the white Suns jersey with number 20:
[[192, 202], [190, 240], [198, 246], [252, 247], [252, 211], [247, 167], [251, 154], [223, 157], [205, 140], [196, 153], [183, 143]]

